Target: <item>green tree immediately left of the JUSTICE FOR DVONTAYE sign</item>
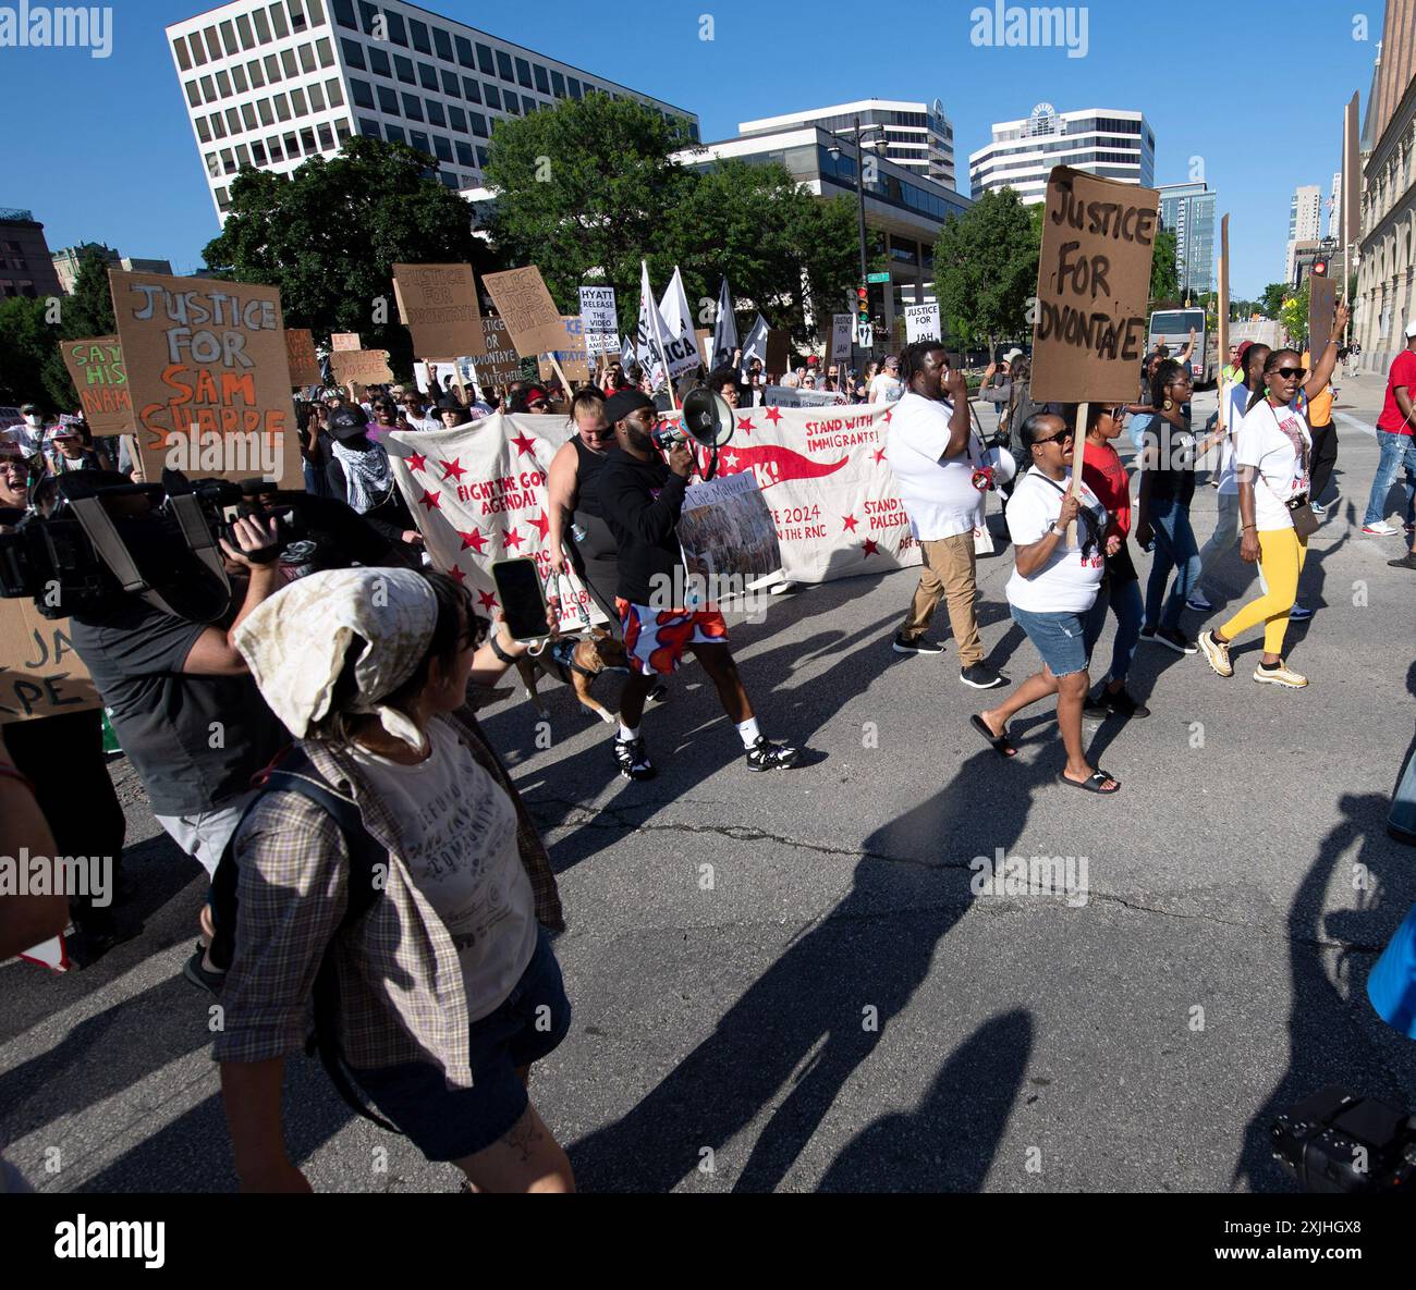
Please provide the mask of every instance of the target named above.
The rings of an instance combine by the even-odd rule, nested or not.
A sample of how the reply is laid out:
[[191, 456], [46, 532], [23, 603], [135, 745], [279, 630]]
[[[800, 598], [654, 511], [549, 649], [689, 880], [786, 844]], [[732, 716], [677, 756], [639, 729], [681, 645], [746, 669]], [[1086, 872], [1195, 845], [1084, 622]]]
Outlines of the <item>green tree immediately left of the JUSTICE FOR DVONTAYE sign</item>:
[[1012, 188], [986, 192], [944, 221], [935, 242], [935, 298], [953, 337], [986, 341], [993, 354], [997, 341], [1031, 331], [1039, 228]]

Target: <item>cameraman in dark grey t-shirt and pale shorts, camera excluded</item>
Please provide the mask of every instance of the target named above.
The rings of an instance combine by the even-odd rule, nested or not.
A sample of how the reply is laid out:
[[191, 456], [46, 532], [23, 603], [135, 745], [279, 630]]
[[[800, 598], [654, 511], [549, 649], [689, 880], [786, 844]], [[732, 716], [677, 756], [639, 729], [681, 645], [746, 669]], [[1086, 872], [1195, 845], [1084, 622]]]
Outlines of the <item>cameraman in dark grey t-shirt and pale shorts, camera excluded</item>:
[[[126, 482], [112, 477], [103, 482]], [[142, 495], [112, 508], [140, 516]], [[235, 631], [282, 586], [273, 519], [236, 519], [219, 539], [232, 584], [217, 622], [193, 621], [116, 593], [71, 614], [74, 648], [109, 710], [113, 733], [167, 835], [208, 874], [251, 799], [251, 779], [289, 741], [236, 651]], [[231, 610], [235, 608], [235, 614]], [[211, 989], [219, 976], [198, 943], [185, 975]]]

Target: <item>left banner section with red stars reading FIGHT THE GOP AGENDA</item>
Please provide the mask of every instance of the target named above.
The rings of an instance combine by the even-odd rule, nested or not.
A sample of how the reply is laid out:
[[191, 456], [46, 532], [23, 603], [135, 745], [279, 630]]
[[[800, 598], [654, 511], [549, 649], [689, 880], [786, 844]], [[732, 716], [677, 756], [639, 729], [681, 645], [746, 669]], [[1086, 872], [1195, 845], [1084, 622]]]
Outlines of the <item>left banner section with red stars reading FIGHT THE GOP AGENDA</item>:
[[[428, 543], [433, 567], [467, 584], [479, 612], [498, 615], [491, 564], [530, 556], [545, 583], [551, 571], [551, 530], [545, 472], [565, 443], [565, 420], [496, 413], [453, 430], [396, 430], [382, 437], [394, 478]], [[605, 614], [573, 579], [562, 597], [561, 629]]]

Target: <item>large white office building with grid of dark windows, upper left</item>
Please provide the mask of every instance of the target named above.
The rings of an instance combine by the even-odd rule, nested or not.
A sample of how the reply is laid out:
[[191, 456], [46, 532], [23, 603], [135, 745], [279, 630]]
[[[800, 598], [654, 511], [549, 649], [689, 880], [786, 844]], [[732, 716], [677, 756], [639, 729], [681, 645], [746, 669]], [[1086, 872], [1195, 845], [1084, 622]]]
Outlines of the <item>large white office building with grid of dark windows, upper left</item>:
[[592, 91], [671, 103], [401, 0], [235, 0], [167, 28], [219, 216], [242, 165], [290, 171], [351, 134], [408, 143], [453, 190], [481, 182], [498, 120]]

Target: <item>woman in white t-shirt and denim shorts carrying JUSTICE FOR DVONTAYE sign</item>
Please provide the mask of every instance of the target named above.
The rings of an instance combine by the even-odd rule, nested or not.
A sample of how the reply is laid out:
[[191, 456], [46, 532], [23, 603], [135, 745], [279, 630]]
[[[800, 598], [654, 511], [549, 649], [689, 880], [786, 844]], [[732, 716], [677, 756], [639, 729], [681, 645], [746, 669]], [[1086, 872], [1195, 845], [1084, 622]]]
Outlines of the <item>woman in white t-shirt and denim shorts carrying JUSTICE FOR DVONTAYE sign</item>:
[[[1120, 549], [1120, 536], [1106, 538], [1106, 508], [1086, 484], [1072, 478], [1072, 431], [1066, 422], [1039, 412], [1022, 423], [1018, 434], [1032, 467], [1008, 499], [1008, 535], [1017, 563], [1005, 594], [1014, 622], [1042, 655], [1042, 670], [997, 707], [969, 720], [995, 752], [1017, 757], [1008, 721], [1029, 703], [1056, 695], [1058, 728], [1066, 747], [1066, 765], [1058, 779], [1110, 795], [1121, 782], [1092, 767], [1082, 750], [1082, 707], [1090, 683], [1085, 620], [1102, 584], [1104, 557]], [[1073, 521], [1076, 539], [1069, 542]]]

